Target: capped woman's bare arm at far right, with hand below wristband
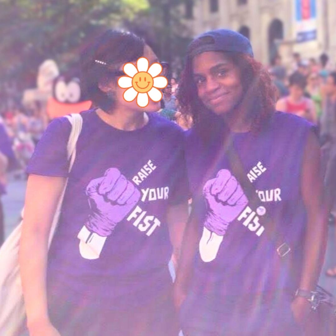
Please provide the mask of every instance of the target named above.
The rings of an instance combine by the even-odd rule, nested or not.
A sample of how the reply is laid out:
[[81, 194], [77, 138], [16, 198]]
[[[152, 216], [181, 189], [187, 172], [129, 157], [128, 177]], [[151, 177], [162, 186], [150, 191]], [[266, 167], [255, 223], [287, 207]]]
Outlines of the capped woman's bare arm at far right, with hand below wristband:
[[[320, 145], [312, 131], [308, 134], [303, 154], [301, 193], [307, 211], [307, 223], [299, 288], [313, 291], [319, 280], [326, 252], [328, 205], [324, 197]], [[296, 297], [292, 302], [292, 309], [297, 322], [303, 322], [310, 309], [309, 302], [305, 298]]]

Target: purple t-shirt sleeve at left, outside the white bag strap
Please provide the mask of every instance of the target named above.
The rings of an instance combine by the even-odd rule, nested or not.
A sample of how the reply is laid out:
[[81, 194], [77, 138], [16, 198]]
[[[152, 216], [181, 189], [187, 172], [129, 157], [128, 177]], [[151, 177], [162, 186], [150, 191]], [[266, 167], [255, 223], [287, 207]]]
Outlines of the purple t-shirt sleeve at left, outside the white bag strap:
[[43, 176], [67, 177], [69, 160], [67, 144], [71, 124], [67, 118], [54, 119], [35, 147], [26, 172]]

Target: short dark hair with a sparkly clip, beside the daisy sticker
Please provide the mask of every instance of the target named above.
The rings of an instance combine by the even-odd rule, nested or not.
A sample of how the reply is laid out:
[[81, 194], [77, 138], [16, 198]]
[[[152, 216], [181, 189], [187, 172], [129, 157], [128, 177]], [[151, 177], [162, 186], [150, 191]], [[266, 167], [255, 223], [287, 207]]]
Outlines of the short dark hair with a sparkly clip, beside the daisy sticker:
[[120, 66], [143, 55], [145, 42], [131, 32], [109, 29], [81, 54], [81, 84], [94, 106], [113, 107], [113, 99], [99, 88], [108, 83]]

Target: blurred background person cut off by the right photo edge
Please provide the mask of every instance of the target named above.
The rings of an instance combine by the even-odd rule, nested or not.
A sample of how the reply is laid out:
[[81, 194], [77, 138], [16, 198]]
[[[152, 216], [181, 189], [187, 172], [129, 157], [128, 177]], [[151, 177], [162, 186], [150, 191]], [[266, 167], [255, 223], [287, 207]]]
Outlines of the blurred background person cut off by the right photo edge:
[[[326, 81], [326, 100], [321, 117], [321, 142], [323, 144], [325, 164], [325, 188], [327, 199], [332, 209], [336, 210], [336, 72], [331, 72]], [[336, 238], [336, 237], [335, 237]], [[326, 274], [336, 277], [336, 265], [330, 267]]]

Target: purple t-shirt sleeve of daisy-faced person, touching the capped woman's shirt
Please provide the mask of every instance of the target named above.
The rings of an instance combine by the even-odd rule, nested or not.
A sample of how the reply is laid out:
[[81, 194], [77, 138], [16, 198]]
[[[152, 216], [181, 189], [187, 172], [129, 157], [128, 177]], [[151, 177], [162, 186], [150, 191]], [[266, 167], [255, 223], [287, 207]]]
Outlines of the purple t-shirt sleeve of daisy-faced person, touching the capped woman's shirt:
[[[181, 132], [182, 133], [182, 132]], [[186, 202], [190, 198], [189, 183], [185, 163], [184, 136], [181, 134], [176, 149], [172, 152], [175, 156], [175, 171], [172, 173], [171, 190], [169, 192], [169, 204], [177, 205]]]

